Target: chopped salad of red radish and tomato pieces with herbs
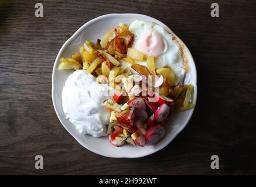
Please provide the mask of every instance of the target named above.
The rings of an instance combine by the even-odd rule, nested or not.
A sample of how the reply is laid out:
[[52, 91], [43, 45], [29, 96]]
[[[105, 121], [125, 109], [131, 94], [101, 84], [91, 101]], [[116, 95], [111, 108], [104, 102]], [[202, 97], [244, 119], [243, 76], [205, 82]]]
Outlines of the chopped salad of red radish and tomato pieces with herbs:
[[151, 146], [165, 136], [164, 122], [172, 111], [174, 101], [157, 97], [158, 102], [151, 102], [152, 97], [136, 96], [121, 105], [122, 94], [117, 93], [104, 102], [111, 110], [108, 133], [113, 146], [120, 147], [125, 142], [141, 147]]

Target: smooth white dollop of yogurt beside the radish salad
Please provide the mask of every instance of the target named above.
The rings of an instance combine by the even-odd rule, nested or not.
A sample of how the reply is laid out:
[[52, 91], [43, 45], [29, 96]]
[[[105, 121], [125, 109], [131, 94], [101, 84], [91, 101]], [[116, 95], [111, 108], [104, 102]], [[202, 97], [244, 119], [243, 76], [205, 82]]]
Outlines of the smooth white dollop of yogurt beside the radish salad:
[[104, 84], [97, 84], [93, 75], [84, 70], [74, 71], [66, 80], [62, 91], [62, 107], [66, 118], [83, 134], [106, 136], [110, 112], [103, 106], [109, 99]]

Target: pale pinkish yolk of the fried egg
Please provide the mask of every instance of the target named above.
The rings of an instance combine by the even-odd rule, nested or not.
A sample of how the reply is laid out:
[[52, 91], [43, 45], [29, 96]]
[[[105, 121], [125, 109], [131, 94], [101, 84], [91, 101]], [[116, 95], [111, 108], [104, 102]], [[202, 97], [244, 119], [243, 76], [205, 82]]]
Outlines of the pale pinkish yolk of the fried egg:
[[138, 50], [146, 55], [146, 57], [160, 56], [165, 50], [165, 42], [161, 34], [155, 30], [146, 30], [138, 39]]

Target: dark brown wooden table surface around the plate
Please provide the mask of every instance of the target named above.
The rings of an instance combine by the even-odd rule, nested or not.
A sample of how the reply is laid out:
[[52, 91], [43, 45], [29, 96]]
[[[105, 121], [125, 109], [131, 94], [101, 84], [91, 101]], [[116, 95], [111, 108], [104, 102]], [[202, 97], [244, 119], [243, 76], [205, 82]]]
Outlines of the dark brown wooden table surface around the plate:
[[[256, 174], [256, 3], [217, 1], [0, 1], [0, 174]], [[52, 104], [52, 68], [71, 34], [107, 13], [161, 20], [189, 47], [198, 98], [187, 127], [138, 159], [91, 153], [64, 130]], [[44, 169], [35, 169], [35, 155]], [[211, 155], [220, 169], [210, 168]]]

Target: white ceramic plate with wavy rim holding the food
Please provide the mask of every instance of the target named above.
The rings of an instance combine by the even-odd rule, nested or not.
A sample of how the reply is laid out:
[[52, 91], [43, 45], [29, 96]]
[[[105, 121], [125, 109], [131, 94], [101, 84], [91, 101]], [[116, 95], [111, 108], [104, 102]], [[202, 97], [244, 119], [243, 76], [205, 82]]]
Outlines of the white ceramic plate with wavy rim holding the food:
[[[129, 144], [125, 144], [122, 147], [114, 147], [109, 141], [108, 137], [100, 137], [94, 138], [92, 136], [84, 136], [83, 134], [78, 133], [73, 124], [66, 119], [63, 109], [62, 109], [62, 88], [64, 86], [64, 82], [66, 78], [73, 72], [69, 70], [59, 71], [57, 70], [57, 65], [59, 64], [60, 57], [70, 57], [71, 54], [79, 51], [80, 46], [83, 45], [84, 40], [97, 41], [98, 38], [101, 38], [107, 30], [111, 29], [114, 26], [117, 26], [118, 23], [126, 23], [128, 26], [134, 20], [145, 20], [148, 22], [155, 22], [159, 25], [163, 26], [170, 33], [174, 34], [172, 30], [170, 30], [165, 24], [151, 18], [149, 16], [128, 13], [128, 14], [109, 14], [100, 16], [90, 22], [87, 22], [80, 29], [77, 30], [73, 36], [67, 40], [62, 49], [60, 49], [59, 54], [54, 63], [53, 67], [53, 75], [52, 75], [52, 99], [53, 106], [56, 111], [57, 116], [59, 117], [60, 122], [63, 124], [64, 128], [69, 131], [71, 136], [73, 136], [78, 143], [80, 143], [83, 147], [87, 148], [94, 153], [103, 155], [105, 157], [112, 158], [138, 158], [144, 157], [146, 155], [155, 153], [156, 151], [161, 150], [163, 147], [167, 146], [170, 141], [175, 138], [180, 131], [184, 129], [186, 124], [189, 122], [190, 117], [192, 116], [193, 110], [190, 109], [185, 112], [175, 113], [168, 120], [166, 124], [166, 136], [159, 141], [157, 144], [153, 146], [131, 146]], [[175, 35], [175, 34], [174, 34]], [[176, 35], [175, 35], [176, 36]], [[178, 37], [177, 37], [178, 38]], [[182, 41], [181, 41], [182, 43]], [[183, 43], [182, 43], [183, 44]], [[185, 84], [194, 85], [194, 103], [196, 103], [197, 97], [197, 85], [196, 85], [196, 67], [194, 65], [194, 60], [190, 51], [184, 45], [185, 53], [187, 55], [187, 60], [189, 63], [190, 71], [186, 74]]]

